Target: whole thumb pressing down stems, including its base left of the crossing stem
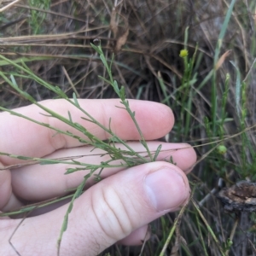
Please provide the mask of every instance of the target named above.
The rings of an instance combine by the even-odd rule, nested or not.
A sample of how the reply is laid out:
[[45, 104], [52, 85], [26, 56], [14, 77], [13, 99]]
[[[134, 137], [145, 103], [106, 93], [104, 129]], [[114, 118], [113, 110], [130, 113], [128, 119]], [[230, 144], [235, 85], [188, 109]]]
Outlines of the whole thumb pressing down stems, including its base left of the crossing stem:
[[[131, 237], [131, 241], [144, 240], [145, 234], [137, 230], [146, 232], [143, 227], [177, 210], [188, 198], [187, 177], [170, 163], [148, 163], [118, 172], [90, 187], [74, 202], [61, 241], [61, 255], [97, 255], [132, 234], [141, 235]], [[16, 250], [22, 255], [55, 255], [67, 207], [26, 218], [26, 224], [12, 238]]]

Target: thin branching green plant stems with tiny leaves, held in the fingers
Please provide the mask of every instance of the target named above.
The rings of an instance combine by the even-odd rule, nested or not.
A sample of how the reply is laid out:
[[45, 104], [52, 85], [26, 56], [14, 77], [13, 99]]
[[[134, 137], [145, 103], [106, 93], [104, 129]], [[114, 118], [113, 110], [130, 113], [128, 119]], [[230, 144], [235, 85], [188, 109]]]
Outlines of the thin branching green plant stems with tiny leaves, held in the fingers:
[[[71, 161], [38, 159], [38, 158], [31, 158], [31, 157], [26, 157], [26, 156], [21, 156], [21, 155], [13, 155], [13, 154], [7, 154], [7, 153], [0, 152], [0, 155], [9, 156], [11, 158], [16, 158], [16, 159], [21, 159], [21, 160], [30, 160], [30, 164], [38, 163], [41, 165], [47, 165], [47, 164], [49, 165], [49, 164], [65, 163], [65, 164], [69, 164], [71, 166], [72, 165], [76, 166], [75, 168], [68, 168], [66, 174], [84, 171], [84, 170], [90, 171], [87, 175], [84, 176], [84, 181], [79, 184], [79, 186], [77, 187], [77, 189], [76, 189], [75, 193], [73, 194], [72, 199], [69, 203], [69, 207], [67, 209], [67, 213], [64, 217], [63, 224], [61, 227], [60, 237], [57, 242], [58, 243], [58, 254], [60, 253], [61, 239], [62, 239], [63, 233], [64, 233], [64, 231], [67, 230], [68, 214], [72, 211], [73, 201], [76, 198], [78, 198], [79, 195], [81, 195], [83, 193], [84, 186], [85, 186], [85, 183], [88, 180], [88, 178], [90, 178], [92, 175], [95, 175], [96, 179], [98, 181], [100, 181], [101, 173], [105, 168], [124, 167], [124, 166], [131, 167], [131, 166], [137, 166], [137, 165], [140, 165], [143, 163], [147, 163], [148, 161], [154, 161], [154, 160], [156, 160], [158, 154], [160, 153], [160, 148], [161, 148], [161, 145], [160, 145], [156, 149], [154, 154], [152, 154], [152, 152], [149, 151], [148, 145], [143, 137], [143, 133], [140, 130], [139, 125], [137, 124], [137, 120], [135, 118], [136, 113], [132, 112], [132, 110], [129, 106], [129, 102], [125, 98], [125, 88], [123, 86], [119, 88], [117, 81], [113, 79], [112, 71], [111, 71], [112, 61], [110, 62], [110, 64], [108, 64], [108, 61], [106, 60], [104, 53], [102, 51], [101, 44], [99, 44], [98, 46], [96, 46], [95, 44], [91, 44], [91, 47], [93, 49], [95, 49], [96, 52], [99, 54], [99, 56], [102, 60], [102, 63], [104, 65], [104, 67], [106, 67], [107, 72], [108, 72], [108, 79], [105, 79], [103, 77], [100, 77], [100, 78], [113, 87], [113, 90], [116, 92], [117, 96], [119, 96], [119, 98], [120, 98], [120, 103], [124, 106], [123, 108], [131, 116], [131, 119], [133, 120], [134, 124], [137, 127], [137, 131], [140, 134], [140, 137], [141, 137], [140, 142], [143, 144], [143, 147], [145, 148], [146, 156], [142, 156], [141, 154], [138, 154], [137, 152], [135, 152], [127, 143], [125, 143], [125, 141], [123, 141], [122, 139], [120, 139], [113, 133], [113, 131], [111, 130], [111, 119], [109, 119], [109, 127], [105, 127], [101, 123], [99, 123], [96, 119], [94, 119], [90, 115], [90, 113], [87, 113], [83, 108], [81, 108], [75, 93], [73, 93], [73, 99], [72, 100], [69, 99], [68, 96], [65, 94], [65, 92], [62, 91], [59, 87], [53, 86], [49, 83], [46, 83], [44, 80], [38, 78], [38, 76], [36, 76], [34, 73], [32, 73], [32, 71], [29, 69], [29, 67], [26, 66], [24, 61], [21, 61], [21, 65], [20, 65], [20, 64], [15, 63], [14, 61], [8, 60], [7, 58], [3, 57], [2, 55], [0, 55], [0, 58], [2, 58], [3, 61], [9, 62], [9, 64], [13, 65], [20, 71], [20, 73], [0, 72], [0, 76], [5, 80], [6, 83], [8, 83], [13, 89], [15, 89], [20, 94], [20, 96], [25, 97], [26, 100], [32, 102], [33, 104], [37, 105], [39, 108], [44, 110], [46, 113], [48, 113], [50, 118], [59, 119], [62, 122], [66, 123], [67, 125], [75, 128], [77, 131], [81, 131], [88, 139], [84, 140], [83, 138], [74, 135], [70, 131], [58, 130], [49, 124], [40, 123], [34, 119], [30, 119], [20, 113], [16, 113], [15, 111], [9, 110], [7, 108], [0, 107], [1, 110], [7, 111], [13, 115], [19, 116], [20, 118], [29, 119], [30, 121], [35, 122], [38, 125], [43, 125], [45, 127], [48, 127], [49, 129], [52, 129], [52, 130], [56, 131], [57, 133], [65, 134], [66, 136], [78, 139], [80, 143], [84, 143], [86, 145], [91, 145], [94, 148], [101, 148], [103, 151], [102, 156], [104, 154], [109, 154], [109, 156], [110, 156], [110, 160], [108, 160], [108, 161], [102, 161], [99, 165], [90, 165], [90, 164], [79, 162], [78, 160], [74, 160], [74, 159], [71, 159]], [[21, 74], [21, 72], [23, 72], [24, 74]], [[7, 76], [10, 76], [10, 79]], [[111, 135], [111, 137], [108, 139], [108, 142], [103, 142], [102, 140], [98, 139], [93, 134], [91, 134], [89, 131], [87, 131], [84, 128], [84, 126], [80, 125], [79, 123], [74, 123], [73, 119], [72, 119], [72, 115], [70, 113], [68, 113], [69, 119], [67, 119], [67, 118], [61, 116], [60, 114], [55, 113], [51, 109], [45, 108], [42, 104], [37, 102], [31, 95], [29, 95], [28, 93], [26, 93], [25, 91], [23, 91], [19, 88], [18, 84], [16, 83], [15, 76], [18, 76], [18, 77], [22, 76], [27, 79], [34, 79], [38, 82], [38, 84], [42, 84], [46, 89], [54, 91], [57, 96], [67, 100], [67, 102], [73, 104], [76, 108], [79, 108], [79, 110], [85, 116], [85, 117], [81, 117], [81, 119], [85, 119], [91, 123], [94, 123], [95, 125], [98, 125], [104, 131], [106, 131], [109, 135]], [[120, 143], [120, 144], [124, 145], [125, 150], [121, 150], [120, 148], [117, 148], [115, 146], [115, 143]], [[147, 158], [149, 158], [149, 160]], [[113, 161], [116, 161], [116, 160], [119, 160], [119, 164], [111, 164]], [[77, 167], [77, 166], [79, 166], [79, 167]], [[96, 171], [98, 171], [98, 172], [95, 173]], [[64, 196], [64, 198], [67, 198], [67, 196]], [[56, 201], [60, 201], [60, 200], [59, 199], [53, 200], [52, 203], [55, 203]], [[1, 215], [1, 216], [6, 216], [6, 215], [12, 216], [12, 215], [16, 214], [17, 212], [18, 213], [30, 212], [30, 211], [32, 211], [32, 209], [34, 207], [35, 206], [22, 207], [20, 209], [20, 211], [9, 212], [9, 214], [3, 213], [3, 215]], [[41, 207], [42, 207], [42, 205], [41, 205]]]

